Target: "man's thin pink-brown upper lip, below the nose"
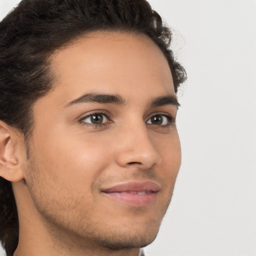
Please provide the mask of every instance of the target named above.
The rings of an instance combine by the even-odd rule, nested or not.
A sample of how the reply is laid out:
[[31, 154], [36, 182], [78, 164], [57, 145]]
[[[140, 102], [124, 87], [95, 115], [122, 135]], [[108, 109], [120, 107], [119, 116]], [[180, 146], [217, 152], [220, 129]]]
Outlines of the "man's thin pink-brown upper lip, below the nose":
[[101, 189], [102, 192], [125, 192], [125, 191], [153, 191], [157, 192], [160, 189], [154, 181], [130, 181], [125, 183], [118, 183], [109, 188]]

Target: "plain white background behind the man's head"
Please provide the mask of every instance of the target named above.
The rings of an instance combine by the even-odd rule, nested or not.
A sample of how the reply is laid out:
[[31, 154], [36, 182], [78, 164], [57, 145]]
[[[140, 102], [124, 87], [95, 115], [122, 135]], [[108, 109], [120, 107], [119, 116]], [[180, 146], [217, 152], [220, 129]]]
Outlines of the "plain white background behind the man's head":
[[[17, 2], [0, 0], [0, 18]], [[174, 29], [188, 80], [182, 166], [146, 253], [256, 256], [256, 0], [149, 2]]]

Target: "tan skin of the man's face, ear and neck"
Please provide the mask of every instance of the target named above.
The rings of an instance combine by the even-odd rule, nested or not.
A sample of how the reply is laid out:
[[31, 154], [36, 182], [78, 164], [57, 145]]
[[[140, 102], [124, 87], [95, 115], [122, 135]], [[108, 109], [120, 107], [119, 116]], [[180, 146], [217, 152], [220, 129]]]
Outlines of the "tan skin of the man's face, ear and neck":
[[[149, 106], [175, 97], [167, 60], [145, 35], [97, 31], [57, 50], [51, 66], [53, 90], [33, 106], [29, 159], [23, 137], [0, 123], [0, 174], [12, 181], [20, 224], [14, 255], [137, 256], [157, 235], [180, 167], [177, 107]], [[91, 92], [125, 103], [68, 105]], [[90, 123], [102, 111], [104, 123]], [[151, 122], [155, 115], [162, 124]], [[127, 181], [160, 189], [144, 206], [101, 192]]]

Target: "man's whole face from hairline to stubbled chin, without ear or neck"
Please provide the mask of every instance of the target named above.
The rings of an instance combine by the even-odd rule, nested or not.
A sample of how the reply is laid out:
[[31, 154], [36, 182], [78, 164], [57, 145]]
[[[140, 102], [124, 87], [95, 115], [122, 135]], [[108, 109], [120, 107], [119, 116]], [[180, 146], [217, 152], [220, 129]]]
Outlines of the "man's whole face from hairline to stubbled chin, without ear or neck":
[[93, 32], [52, 59], [57, 78], [33, 107], [24, 167], [36, 210], [59, 235], [150, 243], [181, 157], [167, 60], [147, 36], [117, 32]]

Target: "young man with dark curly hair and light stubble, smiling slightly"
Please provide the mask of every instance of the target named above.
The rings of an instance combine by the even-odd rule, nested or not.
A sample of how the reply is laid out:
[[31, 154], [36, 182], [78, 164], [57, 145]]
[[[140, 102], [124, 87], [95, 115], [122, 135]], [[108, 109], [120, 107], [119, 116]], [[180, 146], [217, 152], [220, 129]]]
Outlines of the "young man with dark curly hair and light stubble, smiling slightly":
[[145, 0], [22, 0], [0, 38], [7, 256], [142, 255], [180, 166], [169, 29]]

